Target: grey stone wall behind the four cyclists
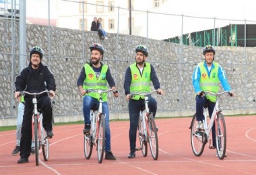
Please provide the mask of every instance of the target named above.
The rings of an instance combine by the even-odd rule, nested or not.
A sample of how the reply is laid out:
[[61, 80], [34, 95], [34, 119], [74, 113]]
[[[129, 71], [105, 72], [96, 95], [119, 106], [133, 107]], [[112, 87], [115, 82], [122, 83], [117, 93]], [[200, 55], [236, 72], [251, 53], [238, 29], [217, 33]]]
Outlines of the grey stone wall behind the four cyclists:
[[[10, 24], [9, 24], [10, 26]], [[14, 118], [13, 81], [19, 70], [18, 24], [15, 26], [15, 50], [13, 50], [11, 28], [0, 20], [0, 126], [10, 125], [4, 118]], [[139, 36], [108, 34], [108, 40], [100, 40], [97, 32], [83, 32], [51, 27], [51, 50], [49, 52], [48, 26], [27, 26], [27, 50], [32, 46], [44, 49], [43, 63], [49, 65], [55, 75], [57, 96], [55, 116], [57, 121], [65, 117], [82, 118], [82, 98], [77, 93], [77, 78], [82, 66], [90, 58], [89, 46], [100, 42], [105, 48], [103, 63], [110, 67], [121, 97], [109, 96], [111, 118], [127, 118], [127, 105], [123, 90], [125, 70], [135, 61], [135, 46], [146, 44], [150, 50], [148, 62], [154, 65], [164, 96], [155, 95], [158, 101], [158, 116], [192, 115], [195, 111], [192, 86], [193, 69], [203, 60], [203, 48], [152, 40]], [[84, 35], [84, 38], [82, 37]], [[84, 57], [83, 57], [84, 46]], [[226, 71], [235, 98], [224, 96], [221, 108], [230, 114], [256, 113], [256, 49], [239, 47], [217, 47], [216, 61]], [[51, 57], [49, 57], [51, 55]], [[28, 63], [28, 61], [27, 61]], [[222, 89], [220, 89], [222, 90]], [[76, 120], [76, 119], [75, 119]]]

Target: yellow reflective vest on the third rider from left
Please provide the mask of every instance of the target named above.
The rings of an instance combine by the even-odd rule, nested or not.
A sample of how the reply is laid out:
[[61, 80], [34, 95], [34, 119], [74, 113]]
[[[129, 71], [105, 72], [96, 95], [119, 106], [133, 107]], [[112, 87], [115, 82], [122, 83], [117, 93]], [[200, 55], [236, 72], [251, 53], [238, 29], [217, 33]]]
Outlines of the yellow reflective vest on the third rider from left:
[[[131, 69], [131, 86], [130, 92], [134, 93], [148, 93], [151, 90], [151, 66], [150, 63], [145, 63], [145, 67], [143, 68], [143, 73], [140, 75], [140, 71], [136, 66], [136, 63], [130, 65]], [[144, 96], [134, 96], [133, 100], [139, 100], [139, 98], [145, 98]]]

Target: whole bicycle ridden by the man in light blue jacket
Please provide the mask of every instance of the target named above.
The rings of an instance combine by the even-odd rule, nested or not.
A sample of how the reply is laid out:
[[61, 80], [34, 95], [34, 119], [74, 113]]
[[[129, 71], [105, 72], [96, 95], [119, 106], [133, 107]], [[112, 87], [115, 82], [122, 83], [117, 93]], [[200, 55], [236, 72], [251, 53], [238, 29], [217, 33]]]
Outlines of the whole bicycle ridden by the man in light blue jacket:
[[199, 131], [197, 130], [197, 118], [196, 114], [193, 116], [191, 125], [189, 129], [191, 129], [191, 147], [193, 150], [193, 153], [196, 156], [200, 156], [203, 153], [203, 149], [205, 147], [205, 144], [209, 142], [209, 148], [215, 148], [211, 147], [211, 139], [210, 139], [210, 133], [212, 131], [212, 127], [215, 122], [215, 132], [216, 132], [216, 149], [217, 149], [217, 155], [220, 160], [223, 160], [226, 155], [226, 123], [224, 120], [224, 115], [222, 114], [222, 110], [219, 110], [220, 106], [220, 96], [222, 94], [228, 93], [230, 96], [230, 92], [220, 92], [220, 93], [213, 93], [213, 92], [203, 92], [204, 95], [210, 94], [212, 96], [216, 96], [216, 104], [214, 107], [214, 111], [212, 112], [212, 117], [207, 123], [207, 114], [206, 114], [206, 108], [207, 106], [203, 107], [203, 130]]

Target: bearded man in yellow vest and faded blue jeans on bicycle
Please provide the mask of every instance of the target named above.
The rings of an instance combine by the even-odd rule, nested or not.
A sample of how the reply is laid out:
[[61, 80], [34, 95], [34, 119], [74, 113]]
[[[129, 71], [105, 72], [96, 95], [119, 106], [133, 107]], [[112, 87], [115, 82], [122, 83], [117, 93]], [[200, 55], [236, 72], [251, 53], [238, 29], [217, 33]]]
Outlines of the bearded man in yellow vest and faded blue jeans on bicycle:
[[[86, 63], [77, 79], [77, 86], [79, 92], [83, 97], [83, 112], [84, 112], [84, 134], [90, 133], [91, 121], [90, 121], [90, 109], [99, 104], [99, 94], [90, 92], [86, 94], [86, 90], [98, 89], [107, 90], [107, 83], [116, 91], [115, 81], [110, 73], [110, 69], [107, 65], [102, 63], [104, 55], [104, 47], [101, 44], [94, 43], [90, 46], [91, 59], [90, 63]], [[118, 92], [114, 93], [115, 97], [118, 97]], [[109, 127], [109, 110], [106, 94], [103, 96], [102, 112], [106, 114], [105, 127], [106, 127], [106, 143], [105, 143], [105, 159], [116, 160], [110, 147], [110, 127]]]

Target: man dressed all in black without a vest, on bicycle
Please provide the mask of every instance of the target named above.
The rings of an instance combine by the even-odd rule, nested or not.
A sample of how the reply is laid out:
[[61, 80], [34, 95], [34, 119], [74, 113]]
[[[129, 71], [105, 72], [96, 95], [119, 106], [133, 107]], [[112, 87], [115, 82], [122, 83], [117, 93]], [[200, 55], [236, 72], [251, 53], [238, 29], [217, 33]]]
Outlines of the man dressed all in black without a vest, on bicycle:
[[[51, 71], [46, 65], [42, 64], [43, 51], [42, 48], [35, 46], [30, 50], [30, 63], [24, 68], [15, 81], [15, 98], [20, 96], [20, 92], [42, 92], [49, 90], [50, 96], [55, 96], [56, 84]], [[34, 106], [32, 104], [33, 96], [24, 96], [25, 110], [22, 122], [22, 137], [20, 139], [20, 160], [18, 164], [28, 162], [28, 157], [31, 153], [32, 139], [32, 115]], [[46, 130], [47, 137], [53, 137], [52, 116], [53, 109], [51, 99], [48, 94], [42, 94], [38, 98], [38, 108], [42, 110], [43, 120], [42, 125]]]

